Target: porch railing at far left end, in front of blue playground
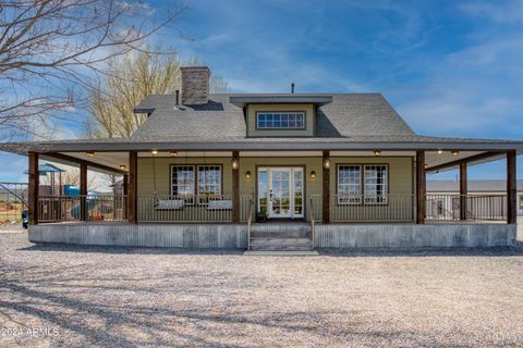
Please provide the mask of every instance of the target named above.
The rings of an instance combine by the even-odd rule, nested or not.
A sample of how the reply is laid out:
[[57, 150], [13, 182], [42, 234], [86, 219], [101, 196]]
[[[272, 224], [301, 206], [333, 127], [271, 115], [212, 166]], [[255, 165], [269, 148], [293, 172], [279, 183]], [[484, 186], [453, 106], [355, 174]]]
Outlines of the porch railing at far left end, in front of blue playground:
[[71, 222], [82, 220], [85, 202], [85, 221], [125, 221], [127, 197], [123, 195], [38, 196], [39, 222]]

